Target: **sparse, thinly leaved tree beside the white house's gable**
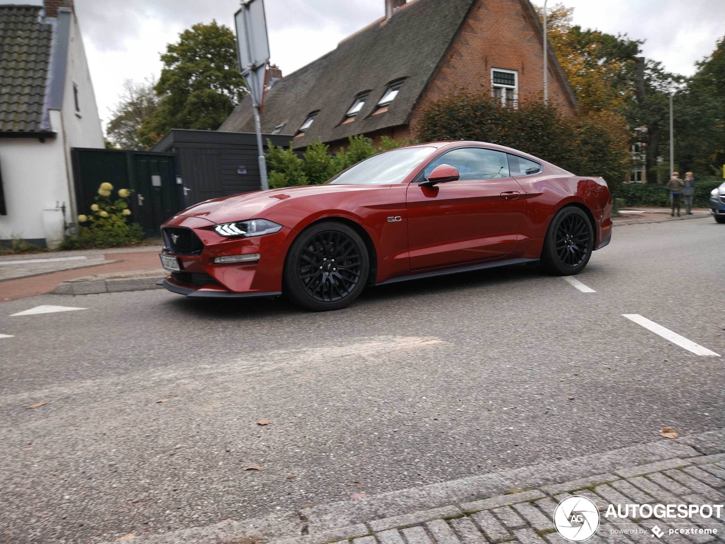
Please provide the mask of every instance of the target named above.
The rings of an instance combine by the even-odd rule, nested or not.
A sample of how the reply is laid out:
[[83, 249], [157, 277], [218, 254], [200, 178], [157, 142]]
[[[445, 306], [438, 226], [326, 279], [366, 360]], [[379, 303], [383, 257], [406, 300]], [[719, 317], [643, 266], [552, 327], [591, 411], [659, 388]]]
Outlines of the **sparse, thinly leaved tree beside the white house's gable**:
[[111, 149], [145, 149], [138, 139], [138, 129], [144, 118], [149, 118], [159, 107], [161, 99], [154, 92], [156, 78], [145, 78], [136, 83], [133, 79], [123, 81], [123, 90], [118, 95], [112, 119], [106, 127]]

